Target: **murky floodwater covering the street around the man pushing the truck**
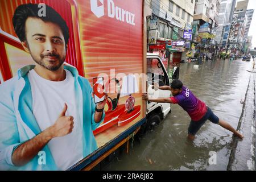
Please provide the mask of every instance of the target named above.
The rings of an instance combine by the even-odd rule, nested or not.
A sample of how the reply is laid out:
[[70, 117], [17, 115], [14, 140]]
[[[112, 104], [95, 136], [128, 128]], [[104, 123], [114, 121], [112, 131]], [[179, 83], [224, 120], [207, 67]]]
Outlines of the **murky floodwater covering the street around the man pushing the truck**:
[[[180, 64], [180, 80], [204, 101], [219, 118], [235, 129], [242, 111], [242, 101], [249, 82], [252, 61], [237, 59]], [[190, 118], [179, 106], [171, 105], [159, 126], [134, 140], [128, 154], [113, 160], [105, 170], [226, 170], [228, 166], [232, 133], [207, 121], [193, 142], [187, 140]], [[210, 151], [216, 160], [209, 164]]]

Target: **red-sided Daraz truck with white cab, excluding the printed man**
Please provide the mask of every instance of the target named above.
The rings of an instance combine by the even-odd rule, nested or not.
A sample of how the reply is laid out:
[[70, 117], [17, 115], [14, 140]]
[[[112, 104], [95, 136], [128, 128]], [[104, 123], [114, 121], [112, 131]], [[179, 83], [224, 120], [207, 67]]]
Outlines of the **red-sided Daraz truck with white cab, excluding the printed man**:
[[171, 94], [169, 90], [154, 89], [155, 83], [170, 85], [170, 77], [162, 58], [146, 51], [142, 0], [0, 1], [0, 84], [16, 76], [24, 65], [34, 64], [12, 24], [16, 7], [24, 3], [38, 3], [42, 14], [44, 5], [57, 11], [69, 28], [64, 65], [75, 67], [91, 86], [93, 78], [104, 77], [104, 84], [114, 90], [108, 90], [104, 122], [93, 131], [97, 150], [68, 170], [92, 169], [132, 135], [151, 129], [171, 112], [170, 104], [142, 100], [143, 92], [152, 97]]

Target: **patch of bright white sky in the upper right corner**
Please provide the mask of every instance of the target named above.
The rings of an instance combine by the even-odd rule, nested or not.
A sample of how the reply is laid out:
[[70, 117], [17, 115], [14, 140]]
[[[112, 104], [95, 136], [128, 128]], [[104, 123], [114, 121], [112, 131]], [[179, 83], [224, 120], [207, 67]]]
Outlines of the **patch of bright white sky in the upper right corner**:
[[[238, 0], [238, 1], [243, 1], [243, 0]], [[248, 33], [248, 35], [253, 36], [253, 40], [251, 42], [252, 42], [252, 48], [254, 48], [256, 47], [256, 34], [255, 34], [256, 33], [256, 0], [249, 0], [247, 10], [248, 9], [254, 9], [253, 19], [251, 20], [251, 26]]]

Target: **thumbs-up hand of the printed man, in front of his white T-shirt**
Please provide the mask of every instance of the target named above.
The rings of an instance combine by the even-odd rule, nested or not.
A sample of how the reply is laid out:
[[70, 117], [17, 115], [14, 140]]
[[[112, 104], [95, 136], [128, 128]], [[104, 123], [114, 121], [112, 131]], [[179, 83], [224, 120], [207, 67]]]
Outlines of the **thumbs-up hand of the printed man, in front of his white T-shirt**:
[[74, 118], [70, 116], [66, 116], [65, 113], [68, 109], [67, 104], [64, 104], [64, 108], [61, 111], [59, 118], [56, 122], [51, 126], [51, 134], [52, 138], [54, 137], [63, 137], [73, 130], [74, 125]]

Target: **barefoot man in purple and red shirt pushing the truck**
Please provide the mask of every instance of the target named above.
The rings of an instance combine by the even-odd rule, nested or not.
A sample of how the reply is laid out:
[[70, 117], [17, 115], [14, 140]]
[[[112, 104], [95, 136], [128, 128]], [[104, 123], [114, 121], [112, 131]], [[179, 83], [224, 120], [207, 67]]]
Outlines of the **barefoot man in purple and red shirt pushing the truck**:
[[167, 98], [150, 98], [147, 93], [142, 94], [142, 98], [146, 101], [151, 102], [162, 102], [179, 104], [188, 115], [191, 117], [191, 122], [188, 127], [188, 139], [195, 139], [197, 131], [204, 125], [204, 123], [209, 119], [209, 121], [218, 124], [225, 129], [231, 131], [239, 138], [243, 138], [243, 135], [235, 130], [228, 122], [219, 119], [217, 115], [213, 113], [212, 110], [203, 102], [200, 101], [180, 80], [174, 80], [170, 84], [171, 86], [159, 86], [155, 84], [155, 89], [170, 90], [172, 92], [172, 97]]

